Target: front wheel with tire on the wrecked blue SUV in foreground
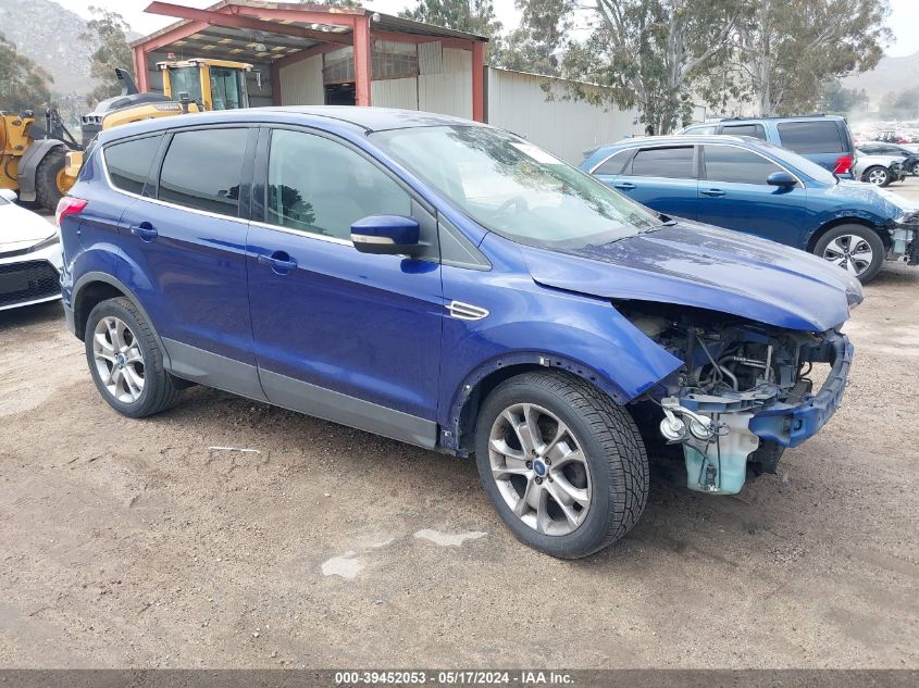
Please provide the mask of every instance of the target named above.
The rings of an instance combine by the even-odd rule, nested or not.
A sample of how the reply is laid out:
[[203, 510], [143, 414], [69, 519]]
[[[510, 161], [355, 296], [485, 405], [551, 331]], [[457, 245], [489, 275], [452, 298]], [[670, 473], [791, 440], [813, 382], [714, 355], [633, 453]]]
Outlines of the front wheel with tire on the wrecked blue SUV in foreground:
[[[552, 449], [530, 454], [532, 461], [497, 451], [524, 455], [513, 425], [527, 418], [542, 435], [533, 446], [545, 450], [554, 439]], [[583, 461], [573, 460], [579, 449]], [[647, 501], [648, 459], [632, 417], [568, 373], [525, 373], [495, 388], [479, 414], [475, 450], [479, 475], [498, 515], [521, 542], [551, 556], [579, 559], [608, 547], [632, 529]], [[572, 503], [562, 508], [566, 499], [555, 496]], [[545, 508], [534, 509], [527, 499]]]

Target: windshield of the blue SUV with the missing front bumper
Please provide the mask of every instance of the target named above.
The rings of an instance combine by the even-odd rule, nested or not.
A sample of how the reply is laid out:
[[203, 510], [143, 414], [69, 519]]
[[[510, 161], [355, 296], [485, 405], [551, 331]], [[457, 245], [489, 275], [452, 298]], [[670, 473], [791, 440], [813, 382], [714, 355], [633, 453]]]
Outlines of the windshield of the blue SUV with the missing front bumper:
[[662, 225], [651, 211], [499, 129], [417, 127], [373, 137], [483, 227], [520, 243], [600, 246]]

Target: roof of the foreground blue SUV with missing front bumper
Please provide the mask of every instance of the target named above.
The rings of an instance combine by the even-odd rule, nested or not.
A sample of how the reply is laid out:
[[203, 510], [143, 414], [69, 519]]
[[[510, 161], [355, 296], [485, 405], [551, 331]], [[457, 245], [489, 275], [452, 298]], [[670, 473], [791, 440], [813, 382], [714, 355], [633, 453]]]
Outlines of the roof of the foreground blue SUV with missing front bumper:
[[355, 105], [289, 105], [222, 110], [174, 117], [144, 120], [107, 129], [100, 137], [108, 142], [138, 134], [160, 132], [194, 125], [221, 124], [310, 124], [320, 128], [350, 130], [357, 134], [403, 129], [423, 126], [487, 126], [479, 122], [449, 115], [396, 110], [393, 108], [358, 108]]

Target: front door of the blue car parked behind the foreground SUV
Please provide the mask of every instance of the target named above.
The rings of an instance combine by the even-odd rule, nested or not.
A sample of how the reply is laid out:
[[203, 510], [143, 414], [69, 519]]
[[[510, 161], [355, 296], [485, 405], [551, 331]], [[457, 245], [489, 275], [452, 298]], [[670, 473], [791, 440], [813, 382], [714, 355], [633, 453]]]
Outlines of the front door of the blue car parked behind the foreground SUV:
[[701, 147], [699, 221], [798, 246], [807, 189], [800, 183], [791, 188], [766, 183], [770, 174], [783, 171], [742, 146], [706, 143]]

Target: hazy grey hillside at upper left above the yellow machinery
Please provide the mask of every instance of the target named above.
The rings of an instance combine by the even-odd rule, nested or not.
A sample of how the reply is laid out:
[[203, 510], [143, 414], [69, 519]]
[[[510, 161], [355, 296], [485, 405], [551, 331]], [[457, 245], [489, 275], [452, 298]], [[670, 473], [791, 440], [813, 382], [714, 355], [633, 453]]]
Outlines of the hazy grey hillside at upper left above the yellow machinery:
[[0, 0], [0, 33], [54, 77], [51, 90], [59, 96], [92, 88], [94, 47], [77, 38], [84, 30], [80, 16], [51, 0]]

